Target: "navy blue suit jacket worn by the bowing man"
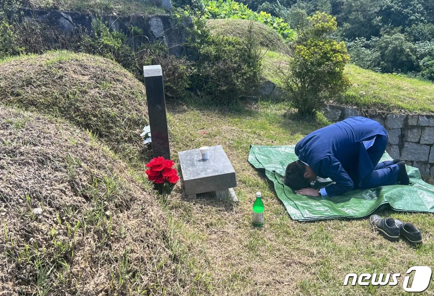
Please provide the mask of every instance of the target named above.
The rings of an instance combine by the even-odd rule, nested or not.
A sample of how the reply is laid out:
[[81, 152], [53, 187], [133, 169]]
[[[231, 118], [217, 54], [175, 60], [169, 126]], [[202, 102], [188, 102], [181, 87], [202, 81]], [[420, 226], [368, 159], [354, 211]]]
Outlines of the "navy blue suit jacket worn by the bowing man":
[[362, 141], [378, 135], [388, 137], [378, 122], [352, 116], [310, 133], [297, 143], [295, 152], [319, 177], [336, 182], [326, 188], [332, 197], [358, 187], [359, 180], [372, 173], [375, 165]]

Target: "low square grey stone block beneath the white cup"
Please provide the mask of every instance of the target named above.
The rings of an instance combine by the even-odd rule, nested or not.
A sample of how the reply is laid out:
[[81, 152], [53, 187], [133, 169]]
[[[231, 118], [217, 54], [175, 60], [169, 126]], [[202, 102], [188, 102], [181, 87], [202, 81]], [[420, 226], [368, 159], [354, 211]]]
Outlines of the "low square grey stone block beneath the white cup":
[[186, 195], [237, 187], [235, 170], [221, 145], [210, 147], [207, 160], [202, 160], [199, 149], [180, 151], [178, 155]]

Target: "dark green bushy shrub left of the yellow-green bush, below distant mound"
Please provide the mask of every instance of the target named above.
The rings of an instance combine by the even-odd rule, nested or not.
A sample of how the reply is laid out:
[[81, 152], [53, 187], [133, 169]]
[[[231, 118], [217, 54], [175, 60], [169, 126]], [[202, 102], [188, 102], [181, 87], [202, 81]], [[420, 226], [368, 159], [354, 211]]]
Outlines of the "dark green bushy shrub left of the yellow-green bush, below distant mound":
[[192, 88], [211, 96], [216, 102], [229, 104], [247, 95], [259, 82], [260, 48], [252, 25], [245, 41], [236, 37], [213, 35], [203, 20], [196, 21], [196, 40], [191, 44], [197, 72]]

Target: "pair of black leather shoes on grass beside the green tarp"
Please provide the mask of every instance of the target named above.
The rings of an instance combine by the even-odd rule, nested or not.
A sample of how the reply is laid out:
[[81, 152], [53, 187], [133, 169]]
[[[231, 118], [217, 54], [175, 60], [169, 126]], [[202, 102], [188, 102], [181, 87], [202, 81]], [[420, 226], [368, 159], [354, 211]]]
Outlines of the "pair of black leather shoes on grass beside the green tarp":
[[397, 241], [401, 235], [410, 243], [422, 243], [421, 231], [411, 223], [404, 223], [390, 217], [381, 218], [378, 215], [372, 215], [369, 223], [388, 240]]

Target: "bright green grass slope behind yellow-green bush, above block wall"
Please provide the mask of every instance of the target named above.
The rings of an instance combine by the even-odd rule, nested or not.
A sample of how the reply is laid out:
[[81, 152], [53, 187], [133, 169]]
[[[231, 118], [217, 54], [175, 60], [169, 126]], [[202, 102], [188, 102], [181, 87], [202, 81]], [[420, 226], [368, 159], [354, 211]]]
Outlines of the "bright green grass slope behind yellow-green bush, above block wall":
[[[264, 75], [281, 84], [277, 73], [285, 69], [289, 56], [267, 51], [263, 58]], [[403, 75], [383, 74], [348, 64], [345, 72], [352, 86], [337, 102], [363, 109], [387, 112], [434, 113], [434, 83]]]

